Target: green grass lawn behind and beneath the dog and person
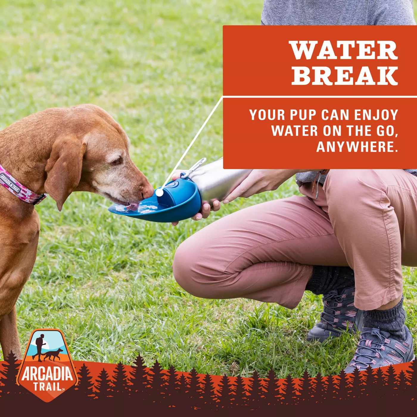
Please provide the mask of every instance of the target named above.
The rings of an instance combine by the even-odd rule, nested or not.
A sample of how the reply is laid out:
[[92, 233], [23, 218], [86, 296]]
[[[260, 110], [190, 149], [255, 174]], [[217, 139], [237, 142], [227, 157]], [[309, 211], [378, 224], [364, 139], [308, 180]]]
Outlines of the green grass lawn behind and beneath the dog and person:
[[[222, 94], [222, 25], [259, 24], [262, 3], [0, 1], [0, 128], [48, 107], [97, 104], [121, 123], [133, 160], [159, 186]], [[220, 107], [183, 167], [221, 153]], [[291, 180], [176, 228], [111, 215], [108, 201], [87, 193], [71, 195], [61, 213], [46, 199], [36, 207], [38, 259], [18, 301], [22, 345], [32, 329], [57, 327], [77, 360], [131, 364], [140, 352], [147, 364], [183, 371], [232, 374], [235, 362], [244, 376], [271, 365], [280, 377], [339, 372], [355, 338], [304, 342], [319, 297], [306, 294], [292, 311], [198, 299], [171, 273], [176, 247], [198, 229], [294, 192]], [[404, 278], [407, 324], [417, 334], [417, 274], [404, 269]]]

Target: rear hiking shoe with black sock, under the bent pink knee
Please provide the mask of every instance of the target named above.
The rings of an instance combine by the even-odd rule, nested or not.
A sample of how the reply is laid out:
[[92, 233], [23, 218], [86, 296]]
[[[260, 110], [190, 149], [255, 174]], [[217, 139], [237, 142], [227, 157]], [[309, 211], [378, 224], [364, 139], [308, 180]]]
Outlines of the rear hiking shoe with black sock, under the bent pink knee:
[[336, 290], [323, 295], [323, 311], [320, 322], [307, 334], [309, 342], [324, 342], [329, 337], [339, 337], [342, 332], [357, 332], [362, 329], [363, 314], [354, 305], [355, 287], [344, 288], [341, 294]]

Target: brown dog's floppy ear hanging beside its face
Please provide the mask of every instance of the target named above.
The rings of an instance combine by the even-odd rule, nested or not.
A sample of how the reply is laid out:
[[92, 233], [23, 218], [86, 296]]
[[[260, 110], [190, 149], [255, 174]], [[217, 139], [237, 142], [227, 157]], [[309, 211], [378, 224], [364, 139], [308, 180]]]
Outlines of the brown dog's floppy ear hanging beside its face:
[[45, 191], [56, 201], [59, 211], [80, 182], [85, 146], [85, 141], [70, 135], [57, 138], [52, 145], [45, 166]]

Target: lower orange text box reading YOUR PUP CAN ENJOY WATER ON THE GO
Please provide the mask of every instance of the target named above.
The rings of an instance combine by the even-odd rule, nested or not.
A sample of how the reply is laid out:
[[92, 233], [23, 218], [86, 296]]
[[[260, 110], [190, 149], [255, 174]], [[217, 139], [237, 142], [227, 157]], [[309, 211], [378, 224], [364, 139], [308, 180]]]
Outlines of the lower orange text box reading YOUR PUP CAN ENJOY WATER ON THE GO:
[[416, 98], [224, 98], [224, 168], [412, 168], [416, 104]]

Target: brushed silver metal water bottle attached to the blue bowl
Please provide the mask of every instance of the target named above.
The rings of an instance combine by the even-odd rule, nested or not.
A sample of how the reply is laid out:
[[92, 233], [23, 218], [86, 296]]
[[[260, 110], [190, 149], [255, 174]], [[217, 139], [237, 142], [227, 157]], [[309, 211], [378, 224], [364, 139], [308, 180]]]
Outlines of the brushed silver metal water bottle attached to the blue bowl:
[[187, 176], [200, 191], [201, 201], [208, 202], [212, 206], [215, 200], [223, 201], [251, 171], [251, 169], [224, 169], [222, 157], [217, 161], [198, 166], [188, 172]]

